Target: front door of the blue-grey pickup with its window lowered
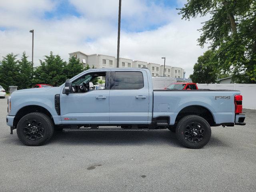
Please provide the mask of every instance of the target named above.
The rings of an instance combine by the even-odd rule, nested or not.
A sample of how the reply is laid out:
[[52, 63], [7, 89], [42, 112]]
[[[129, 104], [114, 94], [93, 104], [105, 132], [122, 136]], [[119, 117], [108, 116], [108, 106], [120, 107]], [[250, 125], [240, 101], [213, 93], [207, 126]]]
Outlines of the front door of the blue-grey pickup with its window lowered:
[[[93, 79], [95, 83], [95, 78], [98, 78], [97, 75], [102, 75], [102, 73], [106, 74], [105, 89], [93, 89], [88, 92], [79, 91], [80, 86], [82, 86], [82, 81], [84, 80], [82, 78], [84, 78], [84, 76], [88, 78], [90, 75], [90, 73], [85, 73], [75, 80], [72, 80], [72, 93], [68, 95], [60, 94], [62, 124], [109, 124], [110, 90], [107, 86], [107, 81], [110, 72], [97, 71], [96, 73], [93, 72], [92, 75], [94, 75]], [[82, 80], [79, 80], [79, 78]]]

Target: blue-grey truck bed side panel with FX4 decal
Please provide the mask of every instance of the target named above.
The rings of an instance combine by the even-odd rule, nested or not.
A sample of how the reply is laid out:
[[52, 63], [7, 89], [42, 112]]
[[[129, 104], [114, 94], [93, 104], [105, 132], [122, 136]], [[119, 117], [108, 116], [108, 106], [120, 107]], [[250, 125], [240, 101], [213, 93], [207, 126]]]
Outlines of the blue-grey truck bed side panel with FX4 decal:
[[[216, 124], [234, 122], [234, 96], [238, 90], [154, 90], [153, 118], [170, 116], [170, 125], [178, 113], [188, 106], [208, 109]], [[223, 97], [224, 96], [224, 97]]]

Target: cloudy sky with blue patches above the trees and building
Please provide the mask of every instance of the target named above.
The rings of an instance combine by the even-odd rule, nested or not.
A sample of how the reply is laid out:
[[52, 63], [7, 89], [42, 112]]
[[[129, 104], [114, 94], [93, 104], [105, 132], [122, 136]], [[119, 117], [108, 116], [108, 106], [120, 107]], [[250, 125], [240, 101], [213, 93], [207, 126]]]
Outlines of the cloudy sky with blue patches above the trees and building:
[[[122, 0], [120, 57], [182, 67], [186, 76], [206, 48], [197, 46], [205, 18], [181, 20], [185, 0]], [[116, 56], [118, 0], [1, 0], [0, 57], [23, 51], [34, 63], [50, 51]]]

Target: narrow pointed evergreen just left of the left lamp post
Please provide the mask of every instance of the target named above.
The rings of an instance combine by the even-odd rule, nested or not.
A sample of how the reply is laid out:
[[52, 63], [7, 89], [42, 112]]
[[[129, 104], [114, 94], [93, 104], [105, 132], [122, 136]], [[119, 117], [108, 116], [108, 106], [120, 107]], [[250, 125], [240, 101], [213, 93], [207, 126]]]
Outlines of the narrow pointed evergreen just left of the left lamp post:
[[31, 88], [32, 86], [32, 64], [28, 61], [28, 56], [26, 52], [22, 53], [21, 60], [19, 63], [19, 74], [18, 74], [18, 85], [19, 89]]

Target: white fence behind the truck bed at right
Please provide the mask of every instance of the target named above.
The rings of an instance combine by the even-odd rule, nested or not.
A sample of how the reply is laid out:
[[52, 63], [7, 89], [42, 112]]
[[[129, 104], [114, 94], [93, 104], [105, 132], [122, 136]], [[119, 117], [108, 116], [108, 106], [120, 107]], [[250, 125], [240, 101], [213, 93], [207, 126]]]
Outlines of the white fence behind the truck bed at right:
[[243, 96], [243, 108], [256, 109], [256, 84], [197, 84], [199, 89], [239, 90]]

